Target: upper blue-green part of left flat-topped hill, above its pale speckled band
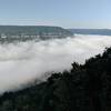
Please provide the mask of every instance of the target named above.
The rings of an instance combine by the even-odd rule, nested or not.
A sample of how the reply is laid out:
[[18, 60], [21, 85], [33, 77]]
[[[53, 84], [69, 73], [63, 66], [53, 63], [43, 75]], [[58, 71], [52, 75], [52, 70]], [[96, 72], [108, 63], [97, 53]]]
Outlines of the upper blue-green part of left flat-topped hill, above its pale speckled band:
[[50, 33], [50, 34], [72, 34], [70, 31], [61, 27], [50, 27], [50, 26], [0, 26], [0, 34], [39, 34], [39, 33]]

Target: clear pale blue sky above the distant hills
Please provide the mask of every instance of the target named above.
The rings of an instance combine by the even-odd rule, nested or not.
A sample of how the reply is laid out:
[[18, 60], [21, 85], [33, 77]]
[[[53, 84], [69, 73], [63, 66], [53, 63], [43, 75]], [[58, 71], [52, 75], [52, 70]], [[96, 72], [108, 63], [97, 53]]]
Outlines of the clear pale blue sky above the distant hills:
[[0, 24], [111, 29], [111, 0], [0, 0]]

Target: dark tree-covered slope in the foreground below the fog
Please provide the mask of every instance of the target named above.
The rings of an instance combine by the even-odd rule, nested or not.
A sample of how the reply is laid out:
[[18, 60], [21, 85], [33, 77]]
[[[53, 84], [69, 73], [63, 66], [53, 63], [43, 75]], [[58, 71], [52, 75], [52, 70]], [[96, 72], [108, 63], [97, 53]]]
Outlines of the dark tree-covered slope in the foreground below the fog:
[[111, 111], [111, 48], [71, 71], [0, 97], [0, 111]]

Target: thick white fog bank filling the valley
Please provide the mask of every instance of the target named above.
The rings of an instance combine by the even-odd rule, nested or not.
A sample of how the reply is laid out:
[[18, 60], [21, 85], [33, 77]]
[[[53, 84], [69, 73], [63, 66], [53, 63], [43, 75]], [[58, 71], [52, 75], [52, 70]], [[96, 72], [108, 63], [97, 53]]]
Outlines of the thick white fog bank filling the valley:
[[46, 72], [71, 69], [73, 61], [102, 53], [111, 46], [108, 36], [74, 36], [40, 42], [27, 41], [0, 44], [0, 92], [19, 88]]

